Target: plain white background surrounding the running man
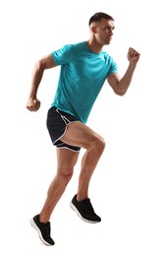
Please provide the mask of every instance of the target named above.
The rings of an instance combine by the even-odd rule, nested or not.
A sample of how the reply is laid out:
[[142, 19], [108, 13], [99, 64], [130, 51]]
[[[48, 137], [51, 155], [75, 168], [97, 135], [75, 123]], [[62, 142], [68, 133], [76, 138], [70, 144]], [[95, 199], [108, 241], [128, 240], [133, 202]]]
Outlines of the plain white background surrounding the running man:
[[[85, 224], [70, 209], [75, 175], [52, 215], [56, 245], [41, 244], [29, 225], [39, 213], [55, 175], [56, 155], [45, 119], [59, 69], [46, 71], [38, 97], [41, 108], [26, 109], [34, 63], [66, 43], [89, 37], [95, 12], [114, 17], [116, 29], [105, 50], [127, 67], [127, 51], [140, 60], [126, 96], [105, 83], [88, 125], [107, 147], [90, 184], [100, 224]], [[0, 3], [0, 221], [3, 255], [165, 255], [165, 124], [163, 1], [1, 1]], [[99, 120], [99, 121], [98, 121]], [[1, 253], [2, 254], [2, 253]]]

